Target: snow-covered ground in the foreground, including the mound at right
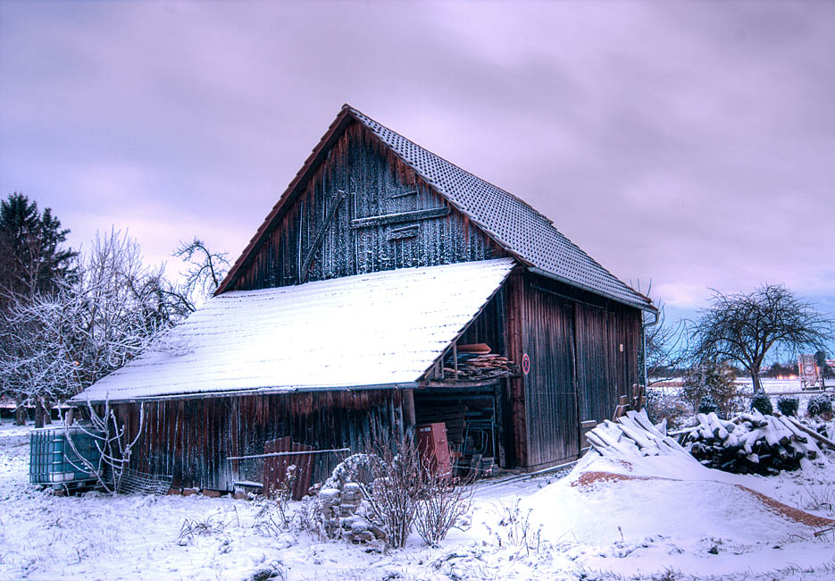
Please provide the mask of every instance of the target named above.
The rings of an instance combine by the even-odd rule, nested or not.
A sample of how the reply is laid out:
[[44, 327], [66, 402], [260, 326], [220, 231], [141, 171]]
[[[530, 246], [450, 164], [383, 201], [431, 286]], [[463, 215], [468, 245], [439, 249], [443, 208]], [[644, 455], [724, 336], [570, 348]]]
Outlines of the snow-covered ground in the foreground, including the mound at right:
[[[482, 484], [469, 531], [438, 549], [413, 535], [404, 551], [380, 554], [265, 526], [255, 502], [39, 492], [28, 484], [28, 432], [0, 426], [0, 579], [835, 578], [835, 532], [815, 538], [820, 525], [737, 485], [835, 518], [835, 456], [772, 478], [669, 457], [586, 458], [570, 476]], [[621, 476], [589, 478], [595, 471]]]

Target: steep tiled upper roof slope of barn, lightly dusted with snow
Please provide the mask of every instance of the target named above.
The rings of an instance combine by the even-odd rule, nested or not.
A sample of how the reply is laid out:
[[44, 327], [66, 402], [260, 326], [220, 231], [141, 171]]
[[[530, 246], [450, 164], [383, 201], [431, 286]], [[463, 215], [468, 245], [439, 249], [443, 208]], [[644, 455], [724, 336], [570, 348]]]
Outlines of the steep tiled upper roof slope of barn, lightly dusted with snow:
[[347, 110], [423, 180], [522, 260], [564, 282], [611, 299], [638, 307], [650, 305], [647, 297], [599, 265], [559, 232], [546, 216], [521, 199], [465, 172], [353, 107], [347, 106]]

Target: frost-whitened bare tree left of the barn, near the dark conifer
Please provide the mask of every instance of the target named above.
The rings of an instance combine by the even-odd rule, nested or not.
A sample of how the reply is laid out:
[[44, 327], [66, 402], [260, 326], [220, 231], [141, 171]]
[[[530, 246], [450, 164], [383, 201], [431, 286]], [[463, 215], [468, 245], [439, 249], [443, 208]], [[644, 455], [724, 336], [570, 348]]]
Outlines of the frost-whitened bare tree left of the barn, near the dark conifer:
[[74, 395], [135, 358], [184, 315], [163, 270], [142, 265], [136, 240], [96, 235], [74, 280], [32, 299], [16, 298], [3, 317], [0, 382], [38, 408]]

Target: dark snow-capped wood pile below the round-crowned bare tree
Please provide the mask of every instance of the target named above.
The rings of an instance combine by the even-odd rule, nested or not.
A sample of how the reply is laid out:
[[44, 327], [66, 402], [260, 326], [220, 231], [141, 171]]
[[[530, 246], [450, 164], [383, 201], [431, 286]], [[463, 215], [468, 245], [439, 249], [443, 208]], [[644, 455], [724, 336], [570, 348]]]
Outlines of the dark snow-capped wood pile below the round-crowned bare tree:
[[702, 464], [736, 474], [770, 476], [797, 470], [809, 460], [822, 461], [821, 450], [795, 421], [759, 411], [723, 420], [698, 414], [681, 443]]

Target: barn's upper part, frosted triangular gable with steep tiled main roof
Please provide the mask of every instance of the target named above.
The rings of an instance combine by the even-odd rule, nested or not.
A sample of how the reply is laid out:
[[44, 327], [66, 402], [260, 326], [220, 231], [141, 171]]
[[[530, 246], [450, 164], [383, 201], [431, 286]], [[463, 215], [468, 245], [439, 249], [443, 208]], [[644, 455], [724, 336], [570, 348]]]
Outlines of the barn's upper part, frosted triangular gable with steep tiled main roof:
[[344, 105], [217, 292], [507, 255], [653, 309], [521, 199]]

